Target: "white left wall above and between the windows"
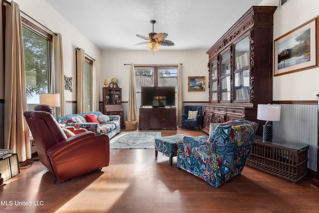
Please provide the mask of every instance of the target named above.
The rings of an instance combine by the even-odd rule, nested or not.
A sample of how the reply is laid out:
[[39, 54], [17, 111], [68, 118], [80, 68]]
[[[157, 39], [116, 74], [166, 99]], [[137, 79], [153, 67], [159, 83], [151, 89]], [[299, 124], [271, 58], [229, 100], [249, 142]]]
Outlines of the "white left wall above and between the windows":
[[[85, 53], [96, 59], [100, 69], [100, 49], [62, 17], [44, 0], [15, 0], [20, 10], [31, 16], [50, 30], [62, 34], [64, 74], [73, 77], [73, 92], [65, 90], [65, 101], [76, 100], [75, 47], [85, 50]], [[99, 72], [99, 70], [98, 70]], [[0, 97], [1, 98], [1, 97]]]

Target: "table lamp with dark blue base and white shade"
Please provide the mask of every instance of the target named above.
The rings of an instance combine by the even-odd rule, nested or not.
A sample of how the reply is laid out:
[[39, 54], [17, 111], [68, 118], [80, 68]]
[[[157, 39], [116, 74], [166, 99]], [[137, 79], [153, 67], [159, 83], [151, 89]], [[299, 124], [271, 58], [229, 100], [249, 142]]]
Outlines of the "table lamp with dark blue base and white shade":
[[270, 121], [280, 121], [281, 105], [258, 104], [257, 119], [266, 121], [263, 126], [263, 142], [272, 141], [273, 126]]

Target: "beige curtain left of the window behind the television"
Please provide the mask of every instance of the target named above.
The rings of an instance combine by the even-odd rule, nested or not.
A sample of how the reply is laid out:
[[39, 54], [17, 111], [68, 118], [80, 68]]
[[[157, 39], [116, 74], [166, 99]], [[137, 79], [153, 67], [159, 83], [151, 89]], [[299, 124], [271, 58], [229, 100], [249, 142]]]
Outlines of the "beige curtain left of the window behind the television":
[[138, 104], [136, 99], [136, 88], [135, 88], [135, 69], [134, 69], [133, 63], [131, 63], [131, 69], [130, 69], [128, 120], [129, 121], [139, 120]]

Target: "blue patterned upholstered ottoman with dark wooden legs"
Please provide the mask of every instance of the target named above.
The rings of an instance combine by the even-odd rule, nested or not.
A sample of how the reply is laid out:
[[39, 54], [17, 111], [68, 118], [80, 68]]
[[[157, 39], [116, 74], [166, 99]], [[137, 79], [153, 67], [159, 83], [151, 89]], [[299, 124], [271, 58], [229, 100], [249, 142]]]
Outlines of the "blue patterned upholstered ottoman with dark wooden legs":
[[158, 152], [169, 157], [169, 165], [172, 165], [172, 159], [177, 156], [177, 144], [183, 142], [184, 134], [165, 136], [155, 138], [155, 158], [158, 157]]

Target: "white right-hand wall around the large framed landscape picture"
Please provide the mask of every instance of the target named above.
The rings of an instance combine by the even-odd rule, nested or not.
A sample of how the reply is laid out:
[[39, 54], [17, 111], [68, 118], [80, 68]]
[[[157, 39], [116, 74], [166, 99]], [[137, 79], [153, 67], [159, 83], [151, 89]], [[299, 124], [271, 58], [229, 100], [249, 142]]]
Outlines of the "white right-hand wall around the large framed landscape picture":
[[[260, 5], [278, 5], [278, 0], [264, 0]], [[274, 40], [318, 15], [319, 0], [288, 1], [274, 13]], [[273, 80], [273, 99], [316, 100], [318, 80], [319, 67], [276, 76]]]

